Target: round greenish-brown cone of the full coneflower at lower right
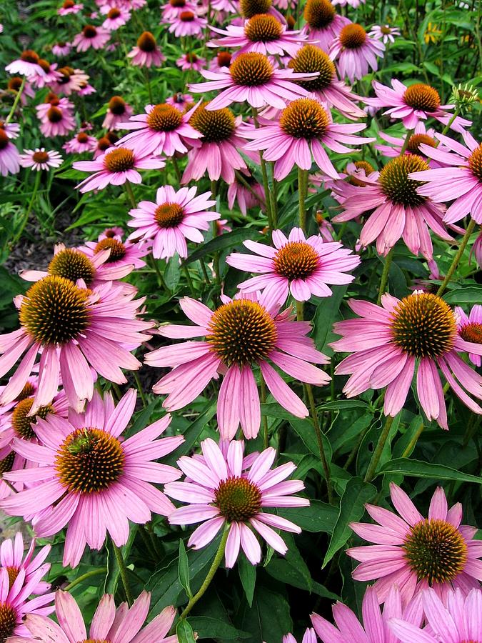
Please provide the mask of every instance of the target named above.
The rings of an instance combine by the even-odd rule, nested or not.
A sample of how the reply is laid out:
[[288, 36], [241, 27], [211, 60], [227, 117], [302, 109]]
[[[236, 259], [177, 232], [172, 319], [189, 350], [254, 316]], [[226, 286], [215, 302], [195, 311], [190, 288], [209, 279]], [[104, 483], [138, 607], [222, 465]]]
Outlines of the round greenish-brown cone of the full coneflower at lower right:
[[468, 549], [461, 532], [441, 519], [426, 519], [411, 527], [403, 543], [404, 557], [418, 580], [428, 584], [453, 581], [463, 572]]

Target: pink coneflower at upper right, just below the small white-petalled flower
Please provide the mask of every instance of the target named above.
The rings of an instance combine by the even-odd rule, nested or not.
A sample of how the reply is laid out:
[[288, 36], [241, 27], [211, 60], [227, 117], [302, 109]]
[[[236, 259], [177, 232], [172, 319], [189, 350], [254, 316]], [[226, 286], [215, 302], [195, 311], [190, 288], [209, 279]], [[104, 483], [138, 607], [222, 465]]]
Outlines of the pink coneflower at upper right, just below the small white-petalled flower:
[[[406, 129], [414, 129], [418, 121], [428, 118], [436, 119], [443, 125], [451, 121], [453, 105], [441, 105], [438, 91], [430, 85], [415, 83], [409, 87], [393, 79], [391, 87], [373, 81], [376, 98], [364, 99], [366, 104], [380, 109], [388, 107], [383, 112], [392, 119], [401, 119]], [[451, 124], [451, 129], [459, 133], [464, 127], [471, 125], [471, 121], [457, 116]]]

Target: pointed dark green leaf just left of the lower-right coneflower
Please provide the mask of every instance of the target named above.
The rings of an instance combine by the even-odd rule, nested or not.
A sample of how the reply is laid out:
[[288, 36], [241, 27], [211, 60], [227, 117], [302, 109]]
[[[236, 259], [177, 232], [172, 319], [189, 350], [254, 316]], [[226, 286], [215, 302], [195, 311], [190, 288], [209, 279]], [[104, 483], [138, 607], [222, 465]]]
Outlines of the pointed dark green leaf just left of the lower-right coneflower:
[[348, 523], [357, 522], [363, 516], [365, 503], [370, 501], [375, 494], [376, 487], [373, 487], [373, 484], [363, 482], [361, 478], [348, 480], [345, 492], [341, 497], [340, 512], [326, 550], [322, 568], [331, 561], [338, 549], [341, 549], [346, 544], [352, 533]]

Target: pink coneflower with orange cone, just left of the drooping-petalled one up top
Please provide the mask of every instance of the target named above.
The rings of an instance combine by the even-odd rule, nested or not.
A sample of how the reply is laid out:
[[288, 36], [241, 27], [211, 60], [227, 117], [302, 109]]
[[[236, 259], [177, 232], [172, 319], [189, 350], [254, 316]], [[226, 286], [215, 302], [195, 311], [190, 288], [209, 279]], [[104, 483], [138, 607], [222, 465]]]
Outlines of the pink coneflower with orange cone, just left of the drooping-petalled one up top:
[[134, 131], [123, 136], [117, 145], [129, 147], [143, 156], [173, 156], [176, 151], [186, 154], [186, 144], [197, 146], [197, 139], [202, 136], [200, 131], [189, 125], [189, 119], [196, 107], [197, 105], [182, 114], [179, 109], [167, 103], [147, 105], [146, 114], [136, 114], [121, 124], [123, 129]]

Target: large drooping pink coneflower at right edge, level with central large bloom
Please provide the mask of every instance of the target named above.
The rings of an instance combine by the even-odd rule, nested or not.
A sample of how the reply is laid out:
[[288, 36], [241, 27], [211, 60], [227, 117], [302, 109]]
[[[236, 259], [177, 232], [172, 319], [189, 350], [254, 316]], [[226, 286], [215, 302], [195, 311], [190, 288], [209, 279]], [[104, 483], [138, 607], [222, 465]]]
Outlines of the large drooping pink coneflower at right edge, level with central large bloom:
[[448, 429], [440, 369], [463, 404], [482, 413], [466, 393], [482, 399], [482, 377], [458, 356], [481, 355], [482, 345], [458, 335], [456, 316], [443, 299], [415, 291], [401, 300], [385, 294], [381, 306], [354, 299], [348, 305], [360, 317], [338, 321], [334, 332], [343, 339], [331, 344], [336, 351], [353, 352], [336, 367], [337, 374], [351, 374], [343, 388], [347, 397], [387, 387], [383, 411], [395, 417], [416, 373], [418, 400], [428, 420]]

